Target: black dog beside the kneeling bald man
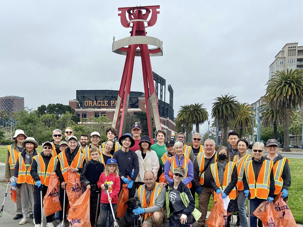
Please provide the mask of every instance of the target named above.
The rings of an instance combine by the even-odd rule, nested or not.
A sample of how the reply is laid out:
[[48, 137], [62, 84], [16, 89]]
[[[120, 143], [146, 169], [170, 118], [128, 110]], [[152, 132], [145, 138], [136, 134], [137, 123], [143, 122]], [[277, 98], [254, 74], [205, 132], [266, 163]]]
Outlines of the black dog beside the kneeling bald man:
[[118, 221], [119, 227], [138, 227], [141, 225], [141, 216], [135, 215], [133, 209], [141, 206], [138, 198], [131, 198], [125, 202], [127, 209], [123, 217]]

